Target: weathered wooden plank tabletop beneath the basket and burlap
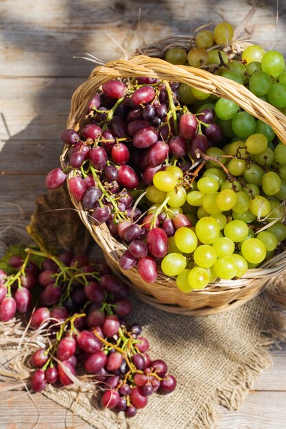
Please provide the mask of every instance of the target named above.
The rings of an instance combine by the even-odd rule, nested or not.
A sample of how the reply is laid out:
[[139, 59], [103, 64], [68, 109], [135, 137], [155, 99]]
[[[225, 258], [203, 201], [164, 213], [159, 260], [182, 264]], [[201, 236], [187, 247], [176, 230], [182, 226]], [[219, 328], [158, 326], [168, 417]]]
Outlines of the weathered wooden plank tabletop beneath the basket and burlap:
[[[71, 95], [93, 68], [73, 56], [88, 52], [106, 61], [121, 56], [119, 43], [130, 50], [168, 34], [191, 34], [208, 21], [237, 25], [250, 3], [259, 6], [248, 25], [255, 40], [285, 54], [285, 1], [276, 27], [276, 0], [1, 0], [1, 218], [10, 218], [12, 203], [28, 220], [36, 194], [45, 191], [45, 174], [58, 166], [58, 136]], [[262, 374], [241, 410], [222, 409], [220, 429], [286, 428], [286, 347], [272, 356], [274, 366]], [[2, 394], [0, 428], [32, 428], [38, 413], [40, 429], [89, 427], [43, 395], [33, 398], [38, 410], [25, 393]]]

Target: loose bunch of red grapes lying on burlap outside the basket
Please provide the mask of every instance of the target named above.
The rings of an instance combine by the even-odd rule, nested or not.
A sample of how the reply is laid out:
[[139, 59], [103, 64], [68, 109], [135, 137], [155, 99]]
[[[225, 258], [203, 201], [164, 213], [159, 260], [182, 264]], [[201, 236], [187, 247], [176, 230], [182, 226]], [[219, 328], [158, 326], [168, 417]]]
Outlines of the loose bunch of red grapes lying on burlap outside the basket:
[[174, 391], [176, 378], [167, 373], [165, 361], [150, 358], [141, 326], [128, 323], [128, 286], [108, 265], [69, 253], [58, 258], [25, 249], [25, 255], [9, 259], [10, 274], [0, 272], [0, 321], [16, 311], [26, 314], [38, 298], [29, 326], [45, 332], [48, 341], [32, 354], [33, 391], [88, 376], [102, 391], [102, 406], [126, 417], [144, 408], [152, 393]]

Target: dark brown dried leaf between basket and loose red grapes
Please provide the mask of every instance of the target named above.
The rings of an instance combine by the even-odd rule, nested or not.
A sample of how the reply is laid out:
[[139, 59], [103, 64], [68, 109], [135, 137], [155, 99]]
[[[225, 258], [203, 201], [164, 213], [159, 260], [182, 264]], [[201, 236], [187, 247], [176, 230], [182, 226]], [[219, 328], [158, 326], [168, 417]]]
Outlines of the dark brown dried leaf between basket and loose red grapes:
[[38, 195], [27, 232], [43, 252], [86, 253], [91, 235], [73, 208], [66, 186]]

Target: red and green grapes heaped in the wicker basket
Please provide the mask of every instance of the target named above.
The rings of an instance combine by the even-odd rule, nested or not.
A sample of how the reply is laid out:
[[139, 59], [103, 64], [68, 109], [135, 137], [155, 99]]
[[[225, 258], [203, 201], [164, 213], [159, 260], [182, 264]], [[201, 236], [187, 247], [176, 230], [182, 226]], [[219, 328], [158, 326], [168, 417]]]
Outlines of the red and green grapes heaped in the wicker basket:
[[[214, 55], [213, 42], [232, 37], [232, 27], [219, 24], [213, 36], [199, 32], [189, 53], [169, 49], [166, 60], [229, 79], [243, 75], [239, 83], [254, 93], [252, 76], [268, 73], [273, 86], [282, 79], [285, 62], [275, 51], [252, 46], [241, 56], [227, 46]], [[121, 269], [136, 266], [146, 282], [158, 267], [183, 292], [239, 278], [286, 239], [286, 146], [234, 101], [150, 77], [111, 79], [82, 128], [61, 139], [67, 168], [51, 171], [47, 186], [68, 177], [88, 220], [106, 223], [126, 246]]]

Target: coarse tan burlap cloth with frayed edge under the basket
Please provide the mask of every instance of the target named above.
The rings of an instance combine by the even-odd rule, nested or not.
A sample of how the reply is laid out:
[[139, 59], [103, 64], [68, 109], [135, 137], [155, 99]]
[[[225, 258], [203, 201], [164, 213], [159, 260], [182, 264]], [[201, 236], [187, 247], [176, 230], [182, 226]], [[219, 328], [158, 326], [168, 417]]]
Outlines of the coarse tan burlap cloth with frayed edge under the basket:
[[[21, 234], [20, 225], [12, 236], [15, 239]], [[1, 234], [0, 252], [5, 249], [3, 242], [10, 238], [10, 230]], [[219, 421], [219, 405], [239, 408], [259, 373], [271, 365], [267, 349], [285, 338], [285, 280], [273, 279], [248, 304], [212, 316], [172, 315], [132, 298], [132, 319], [143, 324], [150, 356], [163, 358], [178, 382], [170, 395], [152, 395], [147, 407], [133, 419], [98, 410], [93, 391], [56, 390], [50, 386], [43, 394], [97, 429], [214, 428]], [[15, 346], [3, 325], [1, 329], [3, 367], [15, 353]], [[10, 365], [7, 363], [6, 369]]]

